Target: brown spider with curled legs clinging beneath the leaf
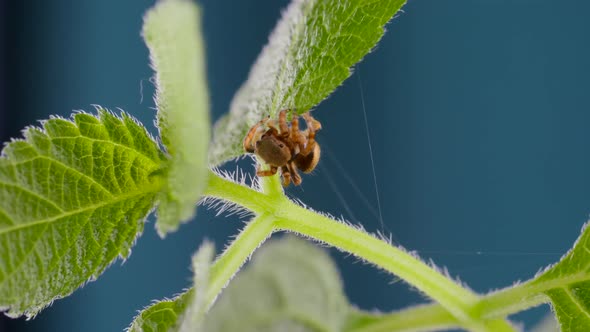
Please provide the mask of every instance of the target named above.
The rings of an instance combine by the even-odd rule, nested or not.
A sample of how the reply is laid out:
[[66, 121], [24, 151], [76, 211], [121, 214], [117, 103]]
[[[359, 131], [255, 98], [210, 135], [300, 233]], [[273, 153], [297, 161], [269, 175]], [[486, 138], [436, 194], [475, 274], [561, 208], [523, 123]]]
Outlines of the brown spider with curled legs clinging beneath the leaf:
[[[299, 117], [293, 114], [291, 125], [287, 123], [287, 110], [279, 112], [279, 121], [262, 119], [252, 126], [244, 138], [244, 150], [255, 153], [270, 166], [268, 170], [256, 170], [258, 176], [271, 176], [279, 167], [283, 176], [283, 186], [291, 181], [298, 186], [303, 173], [311, 172], [320, 160], [320, 145], [315, 140], [316, 131], [322, 125], [309, 112], [302, 115], [307, 124], [306, 130], [299, 129]], [[266, 129], [264, 126], [268, 127]]]

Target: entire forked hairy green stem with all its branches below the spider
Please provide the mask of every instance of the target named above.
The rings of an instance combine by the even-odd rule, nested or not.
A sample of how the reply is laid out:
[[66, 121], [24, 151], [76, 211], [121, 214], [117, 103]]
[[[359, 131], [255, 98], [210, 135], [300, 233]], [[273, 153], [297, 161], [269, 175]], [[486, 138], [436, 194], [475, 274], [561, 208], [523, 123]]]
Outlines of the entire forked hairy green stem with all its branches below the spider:
[[[210, 303], [213, 303], [243, 261], [274, 230], [285, 230], [330, 244], [399, 276], [441, 303], [445, 310], [457, 319], [459, 325], [466, 329], [482, 332], [514, 331], [514, 328], [502, 319], [481, 318], [480, 311], [477, 310], [480, 300], [477, 294], [463, 288], [420, 259], [351, 225], [296, 205], [284, 196], [277, 176], [265, 177], [261, 181], [264, 193], [223, 179], [216, 174], [209, 177], [206, 195], [239, 204], [264, 216], [254, 219], [228, 248], [227, 254], [224, 253], [214, 264], [212, 279], [215, 281], [211, 281], [212, 286], [208, 295]], [[224, 259], [228, 262], [224, 262]]]

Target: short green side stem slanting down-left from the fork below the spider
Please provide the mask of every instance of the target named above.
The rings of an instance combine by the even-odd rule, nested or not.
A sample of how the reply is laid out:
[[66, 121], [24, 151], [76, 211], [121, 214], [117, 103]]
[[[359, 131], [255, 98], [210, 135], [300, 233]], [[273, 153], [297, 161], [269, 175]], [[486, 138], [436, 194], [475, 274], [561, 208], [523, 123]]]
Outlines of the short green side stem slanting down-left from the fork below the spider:
[[273, 232], [273, 216], [261, 215], [250, 220], [240, 235], [211, 267], [206, 307], [211, 306], [242, 265]]

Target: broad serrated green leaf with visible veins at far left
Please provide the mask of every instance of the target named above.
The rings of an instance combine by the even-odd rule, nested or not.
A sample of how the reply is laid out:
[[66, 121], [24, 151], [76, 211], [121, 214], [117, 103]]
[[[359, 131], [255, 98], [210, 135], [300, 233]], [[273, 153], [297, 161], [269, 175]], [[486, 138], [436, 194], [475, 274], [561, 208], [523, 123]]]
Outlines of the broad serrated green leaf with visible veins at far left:
[[0, 308], [35, 315], [127, 257], [164, 160], [126, 114], [52, 118], [0, 156]]

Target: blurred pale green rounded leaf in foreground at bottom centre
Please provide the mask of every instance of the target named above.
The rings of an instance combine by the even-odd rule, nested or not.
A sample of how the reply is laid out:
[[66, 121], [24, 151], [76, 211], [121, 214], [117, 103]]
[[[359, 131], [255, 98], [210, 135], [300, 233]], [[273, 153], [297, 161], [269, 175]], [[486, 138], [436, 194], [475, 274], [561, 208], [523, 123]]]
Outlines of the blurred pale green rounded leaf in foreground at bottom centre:
[[213, 305], [204, 330], [341, 331], [348, 309], [328, 254], [289, 237], [255, 254]]

